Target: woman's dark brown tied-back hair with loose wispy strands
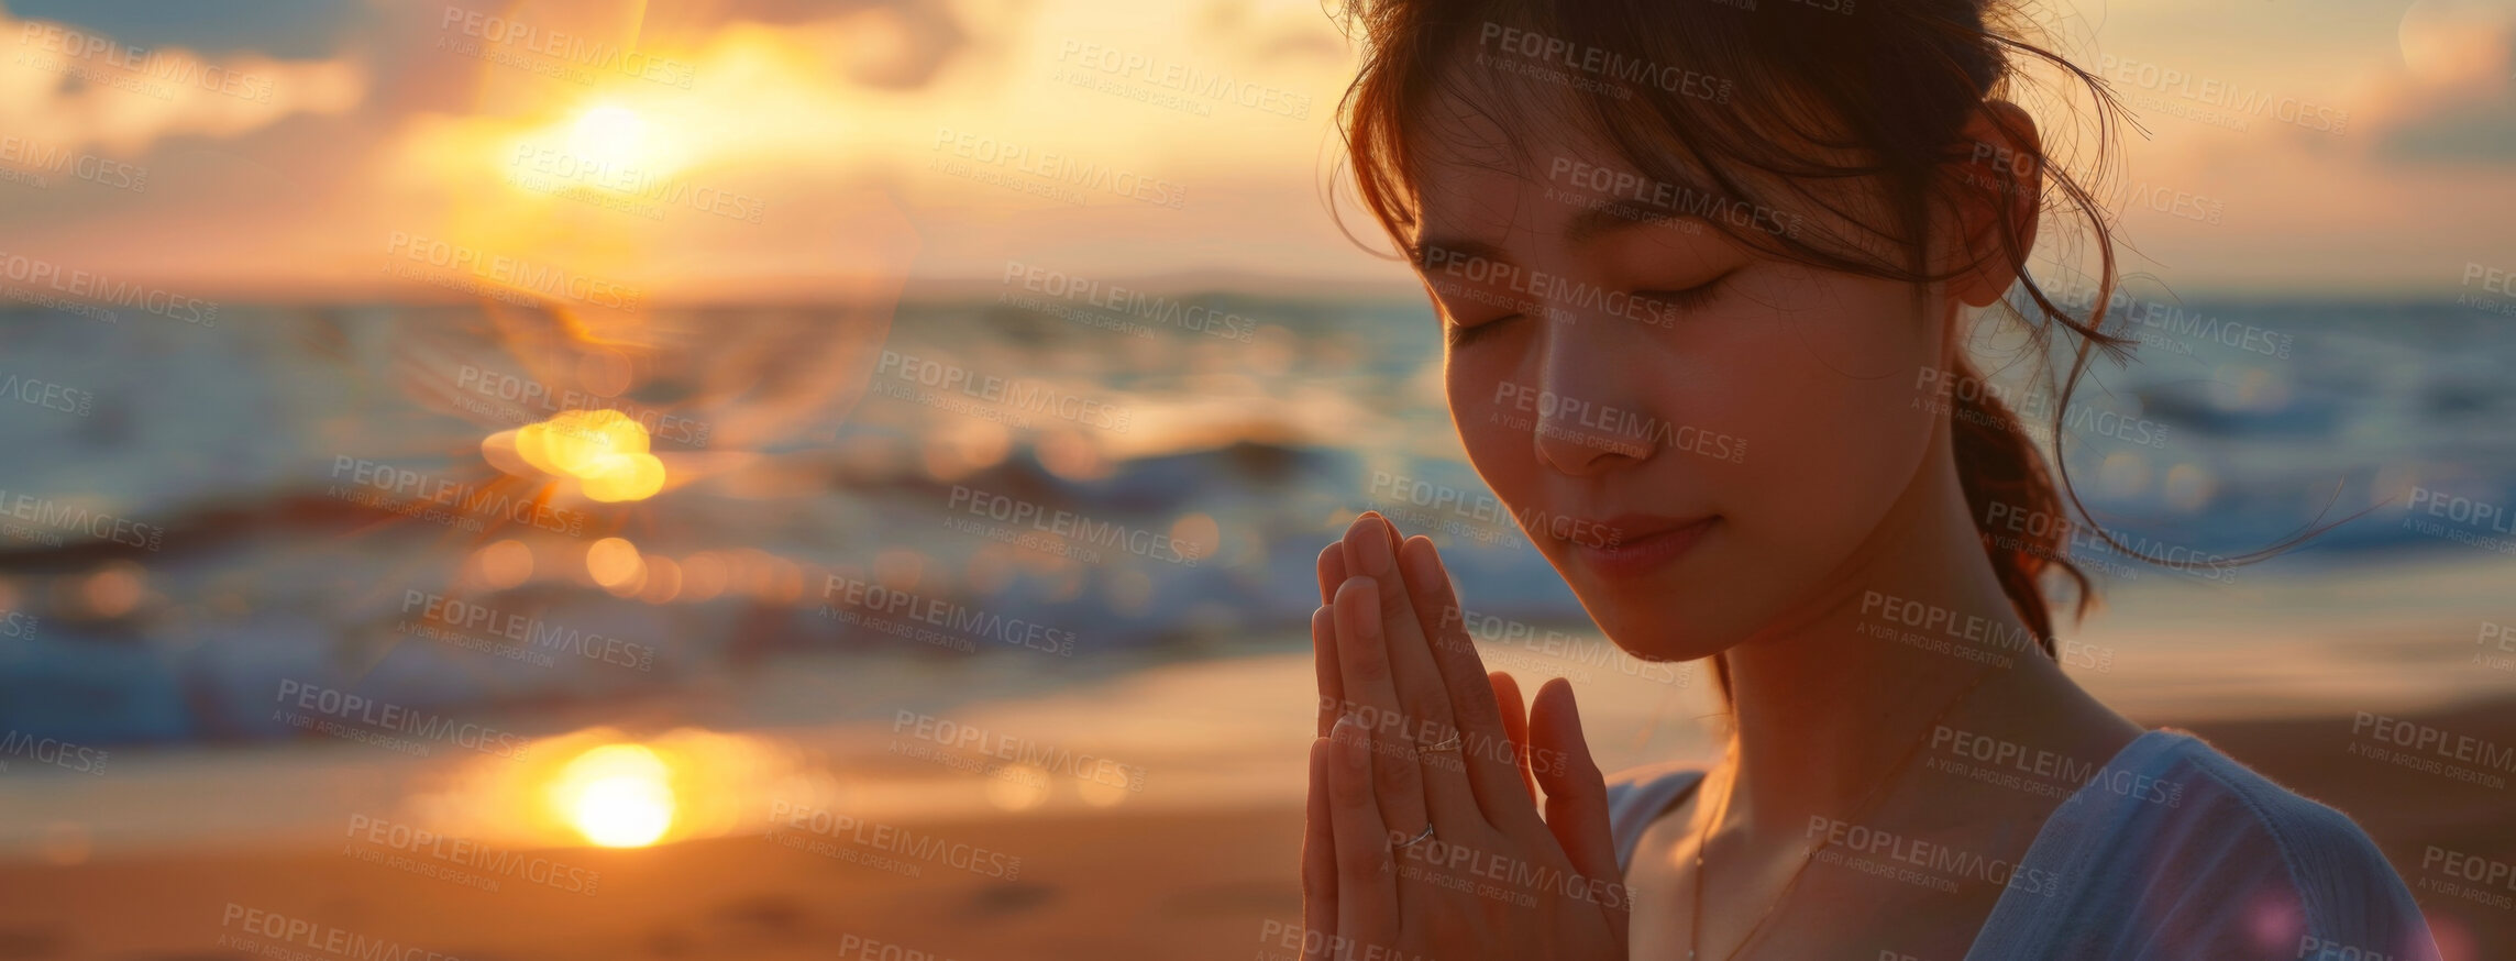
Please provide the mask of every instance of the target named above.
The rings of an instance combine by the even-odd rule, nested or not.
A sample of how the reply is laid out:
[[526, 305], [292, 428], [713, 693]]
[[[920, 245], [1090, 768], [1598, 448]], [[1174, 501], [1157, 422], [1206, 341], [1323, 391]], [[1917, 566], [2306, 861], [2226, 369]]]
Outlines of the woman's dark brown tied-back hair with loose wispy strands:
[[[1761, 211], [1706, 221], [1776, 257], [1905, 279], [1917, 297], [1922, 284], [2000, 259], [1995, 267], [2018, 274], [2000, 309], [2023, 325], [2033, 357], [2048, 357], [2056, 330], [2076, 340], [2051, 403], [2053, 438], [2063, 435], [2063, 408], [2091, 360], [2101, 352], [2124, 360], [2129, 340], [2103, 330], [2116, 282], [2111, 216], [2088, 186], [2103, 179], [2111, 158], [2116, 103], [2098, 78], [2030, 43], [2025, 15], [2000, 0], [1346, 0], [1344, 13], [1349, 33], [1364, 40], [1361, 73], [1339, 106], [1346, 161], [1361, 206], [1399, 244], [1422, 226], [1417, 148], [1447, 121], [1427, 106], [1442, 93], [1477, 111], [1502, 103], [1517, 113], [1497, 118], [1502, 128], [1525, 131], [1527, 118], [1540, 116], [1530, 113], [1537, 93], [1542, 103], [1535, 106], [1547, 111], [1540, 123], [1575, 123], [1635, 176], [1681, 186], [1656, 199], [1678, 196], [1678, 209], [1693, 216]], [[2035, 81], [2023, 68], [2051, 68], [2058, 83], [2028, 91]], [[2015, 136], [2023, 131], [1998, 148], [1965, 138], [1965, 126], [1990, 101], [2025, 101], [2028, 93], [2053, 101], [2056, 91], [2076, 118], [2093, 121], [2088, 169], [2068, 171], [2048, 143]], [[2000, 123], [1998, 111], [1993, 118]], [[1517, 169], [1530, 169], [1522, 143], [1507, 148], [1522, 151]], [[1847, 201], [1827, 184], [1877, 189]], [[2008, 216], [1998, 219], [1998, 249], [1980, 252], [1975, 264], [1932, 269], [1935, 206], [1985, 199], [2046, 204], [2088, 226], [2096, 269], [2086, 279], [2093, 287], [2063, 297], [2091, 304], [2086, 317], [2073, 317], [2028, 277], [2035, 236], [2023, 236]], [[1781, 214], [1809, 209], [1862, 236], [1817, 236], [1796, 229], [1809, 221]], [[1661, 204], [1633, 214], [1671, 211]], [[1776, 229], [1781, 224], [1794, 226]], [[1907, 257], [1869, 254], [1874, 247]], [[1404, 254], [1422, 257], [1417, 249]], [[2020, 418], [1993, 390], [1980, 390], [1983, 377], [1962, 347], [1952, 375], [1973, 387], [1955, 392], [1950, 413], [1965, 501], [2003, 591], [2051, 657], [2046, 581], [2073, 581], [2081, 614], [2091, 599], [2088, 576], [2066, 553], [2068, 523], [2015, 538], [1995, 538], [1985, 526], [1995, 503], [2068, 518], [2068, 468], [2056, 455], [2048, 470]], [[2076, 493], [2068, 498], [2078, 506]], [[2091, 528], [2103, 536], [2101, 526]], [[1726, 674], [1721, 682], [1726, 689]]]

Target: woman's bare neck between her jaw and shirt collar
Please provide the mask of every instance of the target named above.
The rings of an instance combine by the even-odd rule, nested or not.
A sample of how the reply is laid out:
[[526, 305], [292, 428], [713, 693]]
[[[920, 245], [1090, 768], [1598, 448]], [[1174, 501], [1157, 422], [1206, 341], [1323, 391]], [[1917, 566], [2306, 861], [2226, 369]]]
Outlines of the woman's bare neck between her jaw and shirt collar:
[[1789, 843], [1812, 818], [1862, 820], [1960, 697], [2068, 684], [2003, 594], [1947, 443], [1940, 430], [1824, 596], [1721, 654], [1736, 719], [1728, 828]]

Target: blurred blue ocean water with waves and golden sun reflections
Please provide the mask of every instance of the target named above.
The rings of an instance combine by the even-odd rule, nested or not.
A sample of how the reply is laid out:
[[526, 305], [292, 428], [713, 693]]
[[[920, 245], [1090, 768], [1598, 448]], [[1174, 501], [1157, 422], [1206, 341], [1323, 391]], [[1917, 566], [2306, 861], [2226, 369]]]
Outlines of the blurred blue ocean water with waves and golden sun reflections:
[[[443, 304], [13, 309], [0, 730], [289, 740], [307, 692], [586, 717], [800, 662], [928, 664], [901, 699], [979, 662], [991, 697], [1054, 689], [1298, 644], [1313, 556], [1361, 508], [1442, 541], [1495, 624], [1585, 626], [1484, 506], [1422, 304], [1177, 304], [689, 309], [599, 342]], [[2300, 584], [2408, 569], [2443, 571], [2418, 606], [2352, 609], [2418, 621], [2395, 644], [2471, 647], [2506, 604], [2508, 581], [2453, 574], [2516, 551], [2506, 317], [2199, 302], [2126, 330], [2139, 362], [2093, 370], [2061, 440], [2121, 538], [2214, 558], [2335, 526], [2224, 579], [2078, 543], [2116, 636], [2297, 619]], [[483, 453], [569, 408], [639, 420], [664, 491], [599, 503]]]

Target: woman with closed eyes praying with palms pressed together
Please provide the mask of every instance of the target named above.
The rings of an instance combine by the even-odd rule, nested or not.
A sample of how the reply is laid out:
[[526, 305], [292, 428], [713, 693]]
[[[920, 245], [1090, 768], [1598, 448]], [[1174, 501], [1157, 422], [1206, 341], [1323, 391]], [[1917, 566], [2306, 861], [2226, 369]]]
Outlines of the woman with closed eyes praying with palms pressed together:
[[1361, 516], [1311, 624], [1313, 958], [2435, 956], [2345, 815], [2056, 664], [2068, 475], [1962, 345], [2015, 289], [2071, 380], [2121, 347], [2028, 274], [2051, 201], [2111, 292], [2010, 103], [2046, 63], [2103, 131], [2091, 75], [1983, 0], [1349, 13], [1359, 196], [1469, 460], [1618, 647], [1711, 659], [1734, 737], [1600, 777], [1570, 687], [1522, 707], [1432, 541]]

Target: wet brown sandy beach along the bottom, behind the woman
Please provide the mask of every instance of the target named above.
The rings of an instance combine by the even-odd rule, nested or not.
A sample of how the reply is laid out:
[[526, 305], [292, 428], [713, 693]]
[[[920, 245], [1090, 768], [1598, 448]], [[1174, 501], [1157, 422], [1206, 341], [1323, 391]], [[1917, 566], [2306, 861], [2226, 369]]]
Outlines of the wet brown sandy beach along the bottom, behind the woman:
[[[2516, 702], [2395, 719], [2516, 745]], [[2144, 722], [2191, 730], [2357, 818], [2448, 958], [2516, 946], [2506, 901], [2451, 893], [2453, 878], [2423, 863], [2433, 850], [2506, 858], [2516, 805], [2503, 785], [2360, 757], [2357, 712]], [[1278, 770], [1298, 792], [1298, 767]], [[1293, 958], [1281, 933], [1301, 913], [1301, 813], [1286, 797], [901, 813], [881, 830], [800, 823], [644, 850], [496, 853], [521, 870], [372, 828], [254, 850], [13, 860], [0, 865], [0, 958], [335, 958], [372, 943], [450, 958]]]

